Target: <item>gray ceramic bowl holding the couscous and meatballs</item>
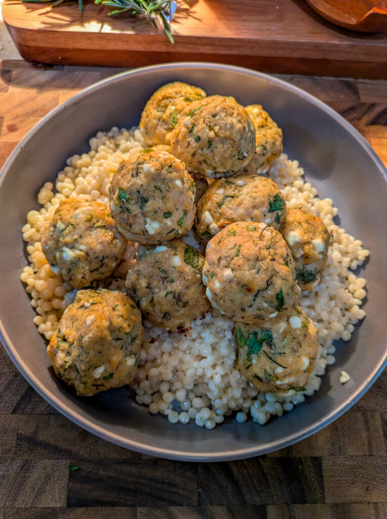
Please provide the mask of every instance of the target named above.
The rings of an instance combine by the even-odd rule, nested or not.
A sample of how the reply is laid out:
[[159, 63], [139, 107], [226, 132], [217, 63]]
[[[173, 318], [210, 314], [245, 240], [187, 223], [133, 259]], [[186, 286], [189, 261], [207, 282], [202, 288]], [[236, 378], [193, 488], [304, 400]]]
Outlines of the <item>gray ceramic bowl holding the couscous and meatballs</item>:
[[[77, 399], [49, 370], [46, 345], [19, 276], [26, 265], [20, 229], [27, 210], [37, 208], [39, 187], [53, 180], [74, 154], [87, 151], [97, 130], [137, 125], [157, 87], [182, 80], [208, 94], [234, 95], [244, 105], [262, 103], [278, 121], [285, 152], [299, 160], [321, 197], [332, 197], [340, 223], [363, 240], [371, 255], [367, 317], [349, 343], [339, 344], [321, 390], [285, 416], [259, 426], [235, 420], [210, 431], [171, 426], [150, 416], [121, 388]], [[283, 81], [246, 69], [179, 63], [137, 69], [106, 79], [53, 110], [12, 153], [0, 186], [0, 333], [9, 356], [28, 382], [61, 413], [84, 429], [133, 450], [186, 460], [238, 459], [275, 450], [318, 431], [358, 400], [381, 373], [385, 360], [387, 279], [386, 170], [370, 146], [331, 108]], [[342, 386], [340, 371], [351, 375]]]

